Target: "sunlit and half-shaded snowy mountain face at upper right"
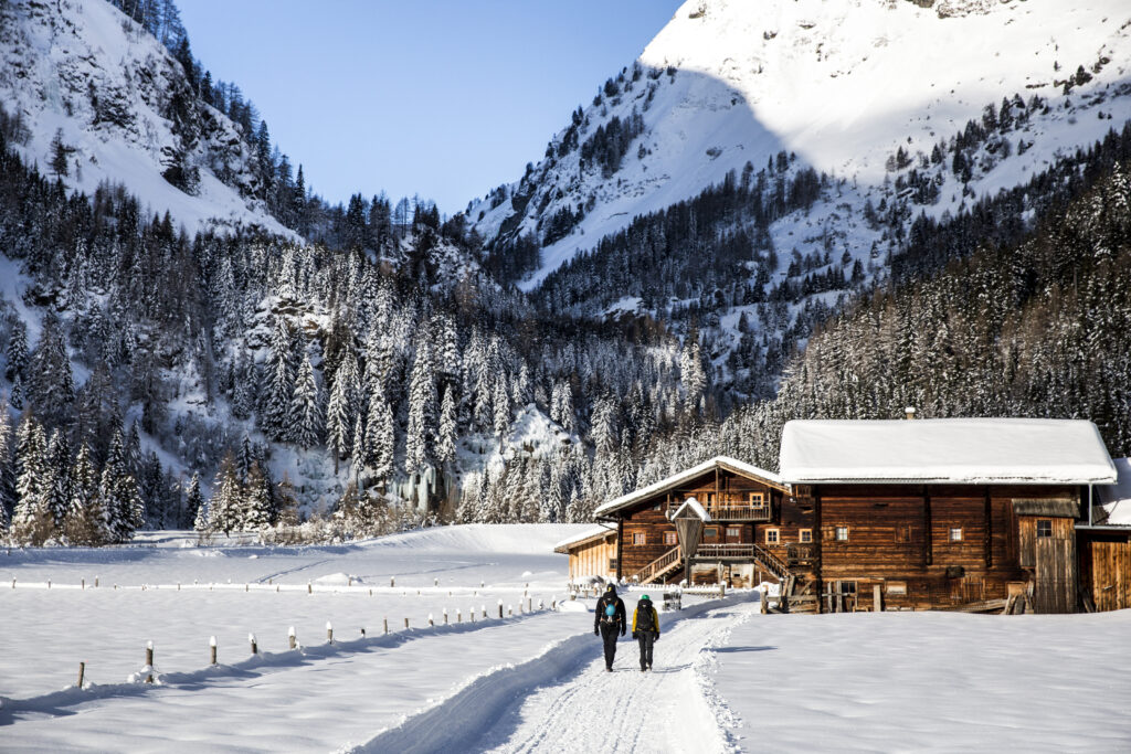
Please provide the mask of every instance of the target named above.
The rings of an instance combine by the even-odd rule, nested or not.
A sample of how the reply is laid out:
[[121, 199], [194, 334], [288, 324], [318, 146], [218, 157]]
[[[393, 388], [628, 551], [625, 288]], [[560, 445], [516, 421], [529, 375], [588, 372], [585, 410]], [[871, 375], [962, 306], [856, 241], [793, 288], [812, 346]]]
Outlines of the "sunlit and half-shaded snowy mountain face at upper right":
[[[941, 217], [1131, 118], [1129, 37], [1121, 0], [689, 0], [533, 170], [472, 202], [468, 217], [495, 248], [524, 234], [542, 246], [520, 281], [529, 291], [636, 216], [748, 163], [757, 171], [792, 153], [878, 203], [893, 173], [987, 106], [996, 118], [1003, 98], [1039, 97], [1041, 112], [968, 180], [936, 171], [936, 197], [920, 209]], [[893, 171], [899, 148], [907, 159]], [[783, 237], [795, 225], [772, 232], [779, 246], [795, 245]]]

